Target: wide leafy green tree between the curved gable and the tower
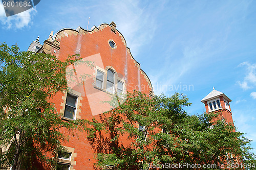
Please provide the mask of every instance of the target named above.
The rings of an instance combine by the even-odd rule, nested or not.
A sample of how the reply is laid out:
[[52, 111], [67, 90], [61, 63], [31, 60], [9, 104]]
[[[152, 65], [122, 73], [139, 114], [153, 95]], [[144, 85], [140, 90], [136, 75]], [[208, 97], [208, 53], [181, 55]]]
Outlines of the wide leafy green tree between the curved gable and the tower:
[[94, 119], [88, 129], [98, 167], [147, 169], [149, 164], [187, 163], [216, 164], [211, 168], [219, 169], [223, 163], [255, 160], [243, 133], [223, 120], [211, 123], [219, 113], [189, 115], [183, 108], [190, 103], [182, 94], [151, 99], [134, 91], [119, 105], [99, 121]]

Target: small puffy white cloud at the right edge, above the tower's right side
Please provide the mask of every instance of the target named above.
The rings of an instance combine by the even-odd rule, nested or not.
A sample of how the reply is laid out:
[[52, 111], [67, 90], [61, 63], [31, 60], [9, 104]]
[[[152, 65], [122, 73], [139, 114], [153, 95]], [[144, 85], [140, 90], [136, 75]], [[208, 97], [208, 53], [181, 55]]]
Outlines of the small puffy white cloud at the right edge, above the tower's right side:
[[243, 90], [247, 90], [256, 86], [256, 63], [250, 64], [248, 62], [243, 62], [239, 66], [246, 66], [246, 76], [244, 80], [238, 81], [237, 83], [241, 86]]

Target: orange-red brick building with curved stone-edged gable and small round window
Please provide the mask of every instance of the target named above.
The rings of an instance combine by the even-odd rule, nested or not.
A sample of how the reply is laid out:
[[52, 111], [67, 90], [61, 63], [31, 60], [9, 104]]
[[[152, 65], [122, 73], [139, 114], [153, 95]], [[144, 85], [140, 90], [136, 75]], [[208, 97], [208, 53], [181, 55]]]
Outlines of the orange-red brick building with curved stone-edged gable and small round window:
[[[71, 65], [75, 77], [68, 79], [68, 93], [58, 93], [52, 102], [62, 113], [62, 119], [99, 119], [99, 114], [110, 110], [110, 94], [132, 92], [152, 94], [152, 85], [140, 64], [133, 58], [122, 34], [112, 22], [103, 23], [92, 30], [81, 27], [61, 29], [44, 42], [40, 51], [57, 56], [64, 61], [69, 55], [80, 54], [84, 61], [92, 61], [94, 67]], [[67, 72], [68, 74], [68, 72]], [[81, 75], [90, 75], [79, 79]], [[80, 83], [80, 85], [79, 85]], [[65, 132], [66, 133], [66, 132]], [[86, 132], [77, 132], [68, 143], [63, 143], [68, 153], [59, 156], [61, 169], [93, 169], [95, 151], [87, 140]], [[126, 140], [123, 141], [123, 144]]]

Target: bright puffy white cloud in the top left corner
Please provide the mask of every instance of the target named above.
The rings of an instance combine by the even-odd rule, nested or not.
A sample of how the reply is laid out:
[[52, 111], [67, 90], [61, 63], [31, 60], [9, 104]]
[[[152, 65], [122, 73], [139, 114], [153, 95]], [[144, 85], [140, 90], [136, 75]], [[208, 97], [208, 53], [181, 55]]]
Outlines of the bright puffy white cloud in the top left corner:
[[31, 8], [16, 15], [6, 17], [4, 7], [2, 4], [0, 4], [0, 24], [4, 29], [22, 29], [29, 26], [32, 16], [35, 13], [36, 10], [34, 8]]

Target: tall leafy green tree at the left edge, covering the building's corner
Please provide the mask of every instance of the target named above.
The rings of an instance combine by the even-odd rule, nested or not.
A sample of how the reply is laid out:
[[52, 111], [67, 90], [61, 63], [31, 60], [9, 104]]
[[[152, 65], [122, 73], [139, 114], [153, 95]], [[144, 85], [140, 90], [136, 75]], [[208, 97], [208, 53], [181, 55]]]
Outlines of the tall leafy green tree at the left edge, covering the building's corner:
[[[59, 128], [74, 130], [83, 120], [63, 122], [49, 102], [67, 91], [66, 68], [78, 55], [60, 61], [55, 56], [19, 52], [16, 45], [0, 45], [0, 167], [33, 169], [35, 164], [54, 167], [60, 141], [68, 136]], [[55, 158], [55, 159], [53, 159]]]

